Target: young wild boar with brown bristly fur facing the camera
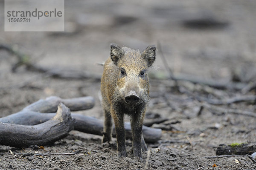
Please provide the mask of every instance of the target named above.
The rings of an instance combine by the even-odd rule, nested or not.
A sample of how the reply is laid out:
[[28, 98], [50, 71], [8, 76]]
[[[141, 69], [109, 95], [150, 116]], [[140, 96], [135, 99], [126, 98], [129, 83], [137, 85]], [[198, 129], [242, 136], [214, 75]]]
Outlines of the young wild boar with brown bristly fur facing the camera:
[[102, 142], [111, 141], [113, 118], [116, 127], [118, 156], [127, 156], [123, 117], [131, 117], [132, 153], [141, 157], [143, 118], [149, 100], [147, 69], [156, 57], [156, 46], [148, 46], [143, 52], [110, 45], [110, 57], [104, 64], [101, 79], [103, 109], [105, 111]]

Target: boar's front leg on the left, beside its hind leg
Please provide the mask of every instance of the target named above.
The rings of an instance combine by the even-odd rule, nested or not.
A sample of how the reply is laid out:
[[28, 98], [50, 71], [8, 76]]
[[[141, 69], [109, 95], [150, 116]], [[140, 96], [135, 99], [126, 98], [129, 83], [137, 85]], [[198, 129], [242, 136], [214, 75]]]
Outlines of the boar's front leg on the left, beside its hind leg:
[[116, 127], [116, 141], [117, 141], [117, 153], [118, 157], [127, 156], [125, 148], [125, 127], [123, 114], [111, 112], [115, 127]]

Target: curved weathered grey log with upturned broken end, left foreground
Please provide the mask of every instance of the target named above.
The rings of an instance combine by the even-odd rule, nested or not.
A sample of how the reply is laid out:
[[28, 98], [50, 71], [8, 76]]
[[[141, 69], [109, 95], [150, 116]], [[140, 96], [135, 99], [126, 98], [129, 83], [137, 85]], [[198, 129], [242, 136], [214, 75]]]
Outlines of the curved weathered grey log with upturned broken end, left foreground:
[[61, 103], [56, 115], [42, 124], [26, 126], [0, 122], [0, 144], [12, 147], [52, 144], [73, 130], [74, 123], [70, 109]]

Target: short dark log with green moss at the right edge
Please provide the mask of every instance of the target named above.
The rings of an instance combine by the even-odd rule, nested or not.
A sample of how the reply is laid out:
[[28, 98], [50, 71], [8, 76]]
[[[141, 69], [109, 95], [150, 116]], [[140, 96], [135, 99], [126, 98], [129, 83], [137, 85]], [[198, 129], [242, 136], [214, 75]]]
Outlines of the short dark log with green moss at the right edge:
[[256, 144], [239, 144], [237, 146], [220, 144], [217, 147], [216, 155], [246, 155], [254, 153], [255, 150]]

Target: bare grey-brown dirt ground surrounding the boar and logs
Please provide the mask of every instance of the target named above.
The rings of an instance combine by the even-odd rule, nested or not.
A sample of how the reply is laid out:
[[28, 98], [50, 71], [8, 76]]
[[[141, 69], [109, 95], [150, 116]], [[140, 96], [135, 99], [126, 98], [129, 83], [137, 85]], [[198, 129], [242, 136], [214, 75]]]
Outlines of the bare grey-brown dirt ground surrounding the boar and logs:
[[[4, 10], [0, 1], [0, 11]], [[0, 44], [29, 55], [31, 61], [51, 69], [80, 70], [100, 77], [109, 54], [109, 44], [143, 50], [161, 43], [167, 63], [175, 75], [213, 78], [229, 84], [256, 81], [256, 1], [254, 0], [163, 0], [129, 2], [65, 1], [66, 32], [4, 32], [0, 14]], [[166, 118], [154, 124], [163, 128], [160, 141], [148, 144], [148, 170], [172, 169], [256, 169], [247, 156], [215, 156], [219, 144], [256, 143], [256, 119], [246, 115], [220, 112], [201, 106], [207, 99], [239, 97], [241, 90], [215, 89], [174, 81], [157, 52], [156, 67], [151, 73], [151, 101], [145, 120]], [[50, 95], [61, 98], [93, 96], [93, 109], [80, 114], [102, 119], [98, 92], [99, 80], [52, 78], [20, 66], [12, 72], [17, 58], [0, 50], [0, 117]], [[255, 90], [245, 95], [255, 95]], [[196, 98], [204, 97], [204, 102]], [[218, 107], [256, 112], [255, 102], [221, 104]], [[127, 118], [128, 121], [128, 118]], [[86, 126], [86, 125], [84, 125]], [[131, 149], [131, 141], [126, 142]], [[12, 150], [13, 154], [9, 150]], [[35, 153], [80, 153], [36, 158]], [[25, 153], [31, 153], [24, 156]], [[23, 154], [23, 156], [22, 156]], [[101, 136], [71, 131], [52, 145], [37, 148], [14, 148], [0, 145], [0, 170], [143, 170], [143, 161], [131, 155], [118, 158], [116, 149], [101, 144]], [[238, 161], [236, 161], [236, 159]], [[213, 167], [213, 165], [216, 167]]]

